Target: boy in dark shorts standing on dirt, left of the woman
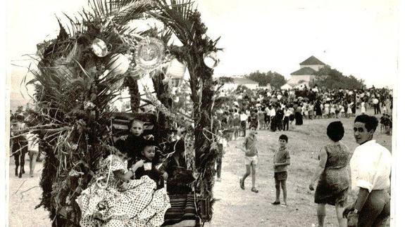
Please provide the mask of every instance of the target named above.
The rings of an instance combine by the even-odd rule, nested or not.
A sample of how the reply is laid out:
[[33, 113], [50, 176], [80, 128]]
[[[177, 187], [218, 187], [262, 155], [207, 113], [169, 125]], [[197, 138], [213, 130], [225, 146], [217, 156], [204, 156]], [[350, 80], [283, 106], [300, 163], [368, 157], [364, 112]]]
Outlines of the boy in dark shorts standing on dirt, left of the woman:
[[282, 134], [278, 138], [280, 148], [274, 154], [274, 179], [275, 179], [275, 202], [273, 205], [280, 205], [280, 185], [282, 188], [282, 197], [284, 204], [287, 206], [287, 187], [285, 181], [287, 181], [287, 166], [289, 165], [289, 151], [287, 150], [288, 137]]

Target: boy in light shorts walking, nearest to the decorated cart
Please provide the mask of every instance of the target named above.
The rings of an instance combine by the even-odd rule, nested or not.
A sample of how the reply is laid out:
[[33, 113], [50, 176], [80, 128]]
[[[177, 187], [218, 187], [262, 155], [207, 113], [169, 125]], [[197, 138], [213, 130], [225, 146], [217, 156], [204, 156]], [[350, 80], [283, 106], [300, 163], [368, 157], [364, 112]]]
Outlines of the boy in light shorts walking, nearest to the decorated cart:
[[244, 151], [244, 164], [246, 165], [246, 173], [239, 180], [239, 186], [244, 190], [244, 180], [250, 175], [251, 172], [251, 191], [258, 193], [255, 187], [256, 183], [256, 165], [258, 160], [257, 151], [257, 138], [256, 131], [250, 131], [249, 136], [244, 139], [242, 143], [242, 150]]

